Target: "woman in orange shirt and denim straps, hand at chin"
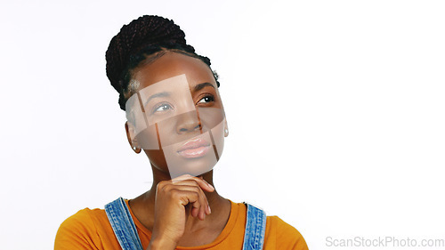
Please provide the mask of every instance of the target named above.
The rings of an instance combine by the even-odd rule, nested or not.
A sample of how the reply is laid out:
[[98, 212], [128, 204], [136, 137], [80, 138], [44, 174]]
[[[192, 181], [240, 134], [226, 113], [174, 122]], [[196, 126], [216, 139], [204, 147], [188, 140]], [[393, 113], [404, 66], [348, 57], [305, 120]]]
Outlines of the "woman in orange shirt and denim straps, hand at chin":
[[279, 217], [214, 190], [212, 169], [229, 130], [210, 60], [184, 37], [172, 20], [143, 16], [111, 40], [107, 76], [130, 146], [150, 159], [153, 184], [138, 198], [72, 215], [55, 249], [120, 249], [127, 239], [135, 249], [307, 249]]

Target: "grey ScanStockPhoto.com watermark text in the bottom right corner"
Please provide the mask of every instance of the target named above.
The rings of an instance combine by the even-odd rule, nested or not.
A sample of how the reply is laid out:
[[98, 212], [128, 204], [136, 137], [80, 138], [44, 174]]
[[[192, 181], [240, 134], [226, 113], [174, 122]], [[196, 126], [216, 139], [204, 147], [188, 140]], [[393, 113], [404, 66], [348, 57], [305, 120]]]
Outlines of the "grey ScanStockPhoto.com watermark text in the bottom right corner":
[[326, 238], [326, 246], [332, 247], [445, 247], [445, 238], [397, 238], [384, 236], [366, 238]]

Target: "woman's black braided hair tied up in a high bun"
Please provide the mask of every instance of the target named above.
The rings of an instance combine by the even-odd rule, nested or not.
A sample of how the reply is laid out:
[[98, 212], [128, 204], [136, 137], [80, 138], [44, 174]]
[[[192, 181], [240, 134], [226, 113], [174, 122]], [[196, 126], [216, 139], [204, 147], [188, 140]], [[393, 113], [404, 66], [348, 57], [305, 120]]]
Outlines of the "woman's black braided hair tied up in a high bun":
[[200, 56], [186, 43], [182, 29], [168, 20], [156, 15], [144, 15], [124, 25], [110, 43], [105, 59], [107, 77], [119, 93], [120, 109], [125, 110], [125, 101], [134, 91], [129, 87], [134, 69], [146, 60], [156, 60], [167, 51], [179, 52], [206, 63], [214, 74], [219, 87], [218, 75], [210, 68], [210, 59]]

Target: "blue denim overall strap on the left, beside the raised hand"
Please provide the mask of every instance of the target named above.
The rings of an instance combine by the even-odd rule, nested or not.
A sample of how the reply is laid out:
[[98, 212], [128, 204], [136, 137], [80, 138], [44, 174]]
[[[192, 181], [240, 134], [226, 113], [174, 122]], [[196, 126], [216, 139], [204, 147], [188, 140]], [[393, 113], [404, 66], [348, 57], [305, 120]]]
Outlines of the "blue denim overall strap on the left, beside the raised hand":
[[143, 250], [130, 210], [123, 198], [105, 205], [105, 212], [123, 250]]

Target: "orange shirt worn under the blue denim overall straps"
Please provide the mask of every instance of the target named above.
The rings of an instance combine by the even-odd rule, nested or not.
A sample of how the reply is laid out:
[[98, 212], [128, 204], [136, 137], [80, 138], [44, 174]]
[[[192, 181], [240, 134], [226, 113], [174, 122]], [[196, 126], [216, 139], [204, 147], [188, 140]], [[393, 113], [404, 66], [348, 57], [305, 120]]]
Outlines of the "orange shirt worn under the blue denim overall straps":
[[[128, 200], [125, 199], [128, 206]], [[132, 214], [134, 224], [141, 238], [143, 249], [149, 246], [151, 232], [146, 229]], [[246, 227], [247, 207], [242, 203], [231, 201], [231, 215], [221, 234], [214, 242], [204, 246], [182, 247], [176, 249], [242, 249], [244, 230]], [[55, 238], [55, 250], [74, 249], [121, 249], [113, 229], [109, 224], [105, 210], [85, 208], [70, 216], [57, 231]], [[283, 222], [278, 216], [267, 216], [264, 250], [308, 249], [303, 236], [294, 227]]]

